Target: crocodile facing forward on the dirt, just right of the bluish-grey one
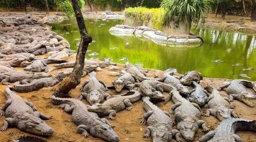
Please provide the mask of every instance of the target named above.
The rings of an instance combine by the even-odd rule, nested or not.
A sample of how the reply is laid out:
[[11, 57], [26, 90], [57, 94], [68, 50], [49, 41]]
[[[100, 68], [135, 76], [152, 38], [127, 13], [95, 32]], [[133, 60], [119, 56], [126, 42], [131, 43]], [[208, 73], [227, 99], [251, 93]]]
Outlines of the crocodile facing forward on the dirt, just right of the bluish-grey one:
[[231, 115], [235, 118], [238, 117], [233, 111], [233, 107], [230, 105], [227, 98], [222, 97], [216, 89], [208, 90], [212, 93], [212, 95], [207, 99], [209, 109], [207, 109], [207, 113], [204, 116], [209, 117], [211, 114], [220, 121], [231, 118]]

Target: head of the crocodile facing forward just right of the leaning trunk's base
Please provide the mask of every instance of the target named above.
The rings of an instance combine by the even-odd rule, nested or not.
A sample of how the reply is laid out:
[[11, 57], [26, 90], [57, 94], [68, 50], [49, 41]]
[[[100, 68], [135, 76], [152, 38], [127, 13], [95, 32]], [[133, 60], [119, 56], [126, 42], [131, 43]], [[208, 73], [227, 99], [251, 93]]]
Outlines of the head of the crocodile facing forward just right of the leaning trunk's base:
[[91, 105], [93, 105], [95, 103], [102, 102], [104, 100], [104, 96], [98, 90], [93, 90], [87, 95], [86, 99]]

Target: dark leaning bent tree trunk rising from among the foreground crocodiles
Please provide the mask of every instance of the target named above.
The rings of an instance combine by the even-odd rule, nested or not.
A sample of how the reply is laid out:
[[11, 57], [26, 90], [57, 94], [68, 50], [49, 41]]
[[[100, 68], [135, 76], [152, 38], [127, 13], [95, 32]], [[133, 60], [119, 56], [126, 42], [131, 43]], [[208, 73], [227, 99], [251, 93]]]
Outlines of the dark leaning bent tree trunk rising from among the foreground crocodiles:
[[87, 29], [84, 23], [84, 18], [81, 13], [81, 9], [77, 3], [77, 0], [71, 0], [73, 10], [75, 12], [76, 21], [79, 27], [79, 32], [81, 35], [81, 42], [76, 55], [76, 63], [71, 75], [67, 78], [64, 78], [56, 87], [53, 88], [58, 93], [68, 94], [71, 89], [76, 88], [76, 86], [81, 81], [81, 76], [84, 69], [84, 58], [87, 51], [89, 43], [92, 42], [92, 37], [88, 35]]

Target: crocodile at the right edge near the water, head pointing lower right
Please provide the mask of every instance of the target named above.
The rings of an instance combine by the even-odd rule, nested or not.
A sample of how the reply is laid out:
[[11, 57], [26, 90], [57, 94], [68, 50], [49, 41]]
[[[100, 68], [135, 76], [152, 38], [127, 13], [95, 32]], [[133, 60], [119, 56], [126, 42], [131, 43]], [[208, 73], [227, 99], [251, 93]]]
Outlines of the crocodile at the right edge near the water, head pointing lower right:
[[219, 87], [217, 90], [225, 90], [230, 95], [230, 101], [233, 99], [244, 102], [250, 107], [254, 106], [254, 101], [256, 96], [249, 93], [245, 87], [252, 88], [256, 92], [256, 87], [253, 82], [243, 80], [243, 79], [235, 79], [230, 83], [225, 83], [223, 86]]

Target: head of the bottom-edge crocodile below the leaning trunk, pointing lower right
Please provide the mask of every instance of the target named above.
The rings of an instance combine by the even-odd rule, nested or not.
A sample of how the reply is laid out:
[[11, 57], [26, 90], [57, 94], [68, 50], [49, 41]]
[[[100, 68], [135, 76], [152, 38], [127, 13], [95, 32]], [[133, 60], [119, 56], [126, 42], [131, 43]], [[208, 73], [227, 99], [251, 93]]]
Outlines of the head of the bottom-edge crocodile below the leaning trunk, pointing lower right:
[[[94, 122], [95, 123], [95, 122]], [[90, 129], [90, 134], [105, 139], [109, 142], [119, 142], [120, 138], [117, 136], [116, 132], [111, 128], [110, 125], [105, 123], [99, 123], [98, 125]]]

